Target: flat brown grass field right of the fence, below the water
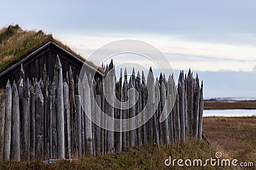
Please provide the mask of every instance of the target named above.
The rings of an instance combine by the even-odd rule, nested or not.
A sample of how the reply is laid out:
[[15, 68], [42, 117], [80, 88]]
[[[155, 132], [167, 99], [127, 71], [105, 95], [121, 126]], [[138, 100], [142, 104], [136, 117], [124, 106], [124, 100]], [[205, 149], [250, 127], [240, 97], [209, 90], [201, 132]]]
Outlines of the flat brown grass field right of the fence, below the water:
[[230, 157], [256, 164], [256, 117], [206, 117], [203, 129]]

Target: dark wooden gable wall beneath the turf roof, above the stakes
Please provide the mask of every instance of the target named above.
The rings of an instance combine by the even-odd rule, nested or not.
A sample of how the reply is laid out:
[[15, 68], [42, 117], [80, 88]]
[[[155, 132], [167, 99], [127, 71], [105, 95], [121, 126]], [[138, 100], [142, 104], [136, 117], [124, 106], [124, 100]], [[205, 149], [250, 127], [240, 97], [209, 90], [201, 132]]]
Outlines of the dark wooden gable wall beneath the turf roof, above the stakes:
[[[66, 73], [69, 67], [72, 67], [74, 76], [80, 73], [81, 67], [83, 66], [83, 61], [78, 59], [76, 56], [67, 52], [65, 49], [56, 45], [55, 43], [49, 42], [46, 45], [38, 48], [35, 52], [28, 55], [28, 57], [20, 60], [13, 66], [9, 67], [2, 73], [0, 73], [0, 87], [3, 89], [6, 85], [8, 79], [13, 82], [17, 81], [20, 78], [20, 66], [21, 63], [24, 67], [25, 76], [29, 79], [43, 78], [44, 64], [47, 69], [47, 74], [49, 74], [49, 79], [52, 81], [54, 76], [54, 64], [56, 61], [57, 54], [60, 57], [61, 66], [63, 70], [63, 76], [66, 76]], [[88, 70], [95, 70], [93, 67], [88, 66]], [[102, 78], [103, 74], [97, 71], [95, 74], [97, 78]]]

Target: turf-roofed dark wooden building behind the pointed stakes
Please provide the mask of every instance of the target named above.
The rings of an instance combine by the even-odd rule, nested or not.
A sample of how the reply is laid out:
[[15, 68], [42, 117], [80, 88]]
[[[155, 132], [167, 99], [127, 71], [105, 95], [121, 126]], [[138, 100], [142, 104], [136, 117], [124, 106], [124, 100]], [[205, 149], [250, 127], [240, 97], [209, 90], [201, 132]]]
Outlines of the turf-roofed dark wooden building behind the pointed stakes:
[[[68, 46], [54, 39], [51, 34], [43, 31], [24, 31], [19, 25], [10, 25], [0, 29], [0, 88], [4, 89], [6, 82], [18, 81], [21, 65], [26, 78], [43, 78], [44, 64], [49, 79], [54, 76], [54, 64], [59, 55], [63, 76], [70, 66], [74, 75], [79, 74], [86, 62], [88, 70], [95, 70], [95, 65], [84, 60], [81, 55]], [[102, 77], [104, 71], [99, 67], [95, 76]]]

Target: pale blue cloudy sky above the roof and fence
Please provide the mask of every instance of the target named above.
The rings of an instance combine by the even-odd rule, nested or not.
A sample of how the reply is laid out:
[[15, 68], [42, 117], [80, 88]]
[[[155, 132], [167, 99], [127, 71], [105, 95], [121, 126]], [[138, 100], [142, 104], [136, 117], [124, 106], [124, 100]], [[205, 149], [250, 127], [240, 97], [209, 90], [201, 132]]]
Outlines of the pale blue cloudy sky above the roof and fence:
[[205, 97], [256, 97], [256, 1], [4, 1], [1, 6], [1, 27], [42, 29], [84, 57], [111, 41], [138, 39], [159, 48], [173, 69], [200, 73]]

